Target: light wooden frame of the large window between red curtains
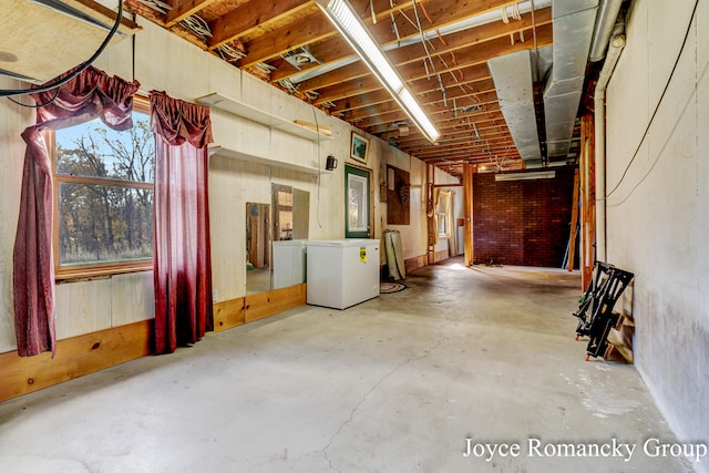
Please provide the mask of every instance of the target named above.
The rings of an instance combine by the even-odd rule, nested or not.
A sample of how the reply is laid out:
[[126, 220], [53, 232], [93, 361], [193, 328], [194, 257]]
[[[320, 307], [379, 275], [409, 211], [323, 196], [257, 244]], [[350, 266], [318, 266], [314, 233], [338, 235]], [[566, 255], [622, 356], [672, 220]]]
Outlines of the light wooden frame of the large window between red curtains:
[[[140, 113], [144, 113], [150, 117], [150, 100], [147, 97], [134, 95], [133, 96], [133, 110]], [[74, 176], [69, 174], [56, 173], [56, 140], [53, 130], [45, 131], [47, 146], [49, 148], [52, 160], [52, 177], [53, 177], [53, 224], [52, 224], [52, 250], [53, 250], [53, 264], [54, 264], [54, 279], [58, 281], [68, 281], [71, 279], [85, 279], [92, 277], [112, 276], [127, 273], [151, 271], [153, 270], [153, 257], [134, 259], [131, 261], [109, 261], [109, 263], [93, 263], [83, 265], [61, 266], [61, 250], [60, 250], [60, 224], [61, 224], [61, 206], [59, 198], [60, 184], [93, 184], [93, 185], [109, 185], [120, 186], [127, 188], [143, 188], [155, 192], [155, 183], [138, 183], [131, 182], [131, 185], [126, 185], [126, 181], [114, 179], [110, 177], [88, 177], [88, 176]], [[154, 200], [153, 200], [154, 203]], [[153, 228], [153, 241], [155, 238], [155, 229]], [[154, 248], [154, 244], [153, 244]]]

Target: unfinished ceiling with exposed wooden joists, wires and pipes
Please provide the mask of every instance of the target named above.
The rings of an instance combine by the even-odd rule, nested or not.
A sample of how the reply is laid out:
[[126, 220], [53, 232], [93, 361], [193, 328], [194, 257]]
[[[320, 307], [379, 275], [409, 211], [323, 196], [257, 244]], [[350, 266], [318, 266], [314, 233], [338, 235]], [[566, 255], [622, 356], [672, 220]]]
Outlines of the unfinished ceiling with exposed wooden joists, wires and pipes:
[[[549, 64], [553, 41], [573, 40], [573, 34], [554, 31], [556, 22], [584, 11], [576, 20], [585, 22], [584, 31], [593, 30], [597, 0], [564, 0], [556, 6], [552, 0], [350, 3], [441, 132], [435, 144], [410, 123], [314, 0], [125, 0], [126, 10], [454, 175], [462, 174], [463, 163], [515, 169], [573, 156], [583, 74], [574, 83], [578, 88], [573, 100], [564, 103], [566, 121], [554, 124], [555, 131], [562, 128], [568, 136], [554, 135], [555, 153], [548, 157], [543, 93], [549, 68], [556, 75], [562, 69]], [[524, 156], [505, 121], [511, 114], [501, 109], [501, 85], [487, 65], [490, 60], [520, 54], [530, 58], [533, 82], [525, 80], [531, 90], [525, 92], [525, 105], [517, 109], [534, 113], [525, 119], [537, 124], [524, 127], [537, 137], [531, 144], [525, 137]], [[575, 70], [585, 70], [586, 58], [587, 52], [573, 59], [578, 61]], [[558, 89], [556, 82], [553, 85]], [[554, 106], [558, 107], [546, 109]], [[520, 123], [512, 125], [520, 128]], [[530, 150], [536, 154], [531, 156]]]

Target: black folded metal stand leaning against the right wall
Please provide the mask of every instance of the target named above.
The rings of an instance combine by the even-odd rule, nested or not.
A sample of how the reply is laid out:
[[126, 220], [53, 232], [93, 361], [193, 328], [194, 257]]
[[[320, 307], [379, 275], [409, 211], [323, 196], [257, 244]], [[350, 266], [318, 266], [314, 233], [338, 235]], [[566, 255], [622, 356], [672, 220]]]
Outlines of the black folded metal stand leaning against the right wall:
[[588, 336], [586, 359], [603, 356], [608, 348], [608, 332], [618, 322], [613, 307], [633, 280], [633, 273], [618, 269], [607, 263], [596, 261], [594, 276], [573, 315], [578, 318], [576, 339]]

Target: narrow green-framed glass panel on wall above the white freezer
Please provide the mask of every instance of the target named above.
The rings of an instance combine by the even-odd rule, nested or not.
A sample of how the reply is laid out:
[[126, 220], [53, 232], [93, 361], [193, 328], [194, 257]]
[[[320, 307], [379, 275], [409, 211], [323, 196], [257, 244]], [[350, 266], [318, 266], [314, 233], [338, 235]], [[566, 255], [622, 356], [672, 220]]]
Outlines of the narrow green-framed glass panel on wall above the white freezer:
[[370, 238], [369, 171], [345, 166], [345, 237]]

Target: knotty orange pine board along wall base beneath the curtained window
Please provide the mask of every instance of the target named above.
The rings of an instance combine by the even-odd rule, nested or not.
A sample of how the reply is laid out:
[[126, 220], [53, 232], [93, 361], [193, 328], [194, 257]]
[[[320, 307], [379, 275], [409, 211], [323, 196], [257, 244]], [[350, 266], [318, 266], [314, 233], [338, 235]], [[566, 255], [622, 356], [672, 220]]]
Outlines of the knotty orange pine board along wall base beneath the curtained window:
[[151, 320], [56, 342], [56, 354], [0, 354], [0, 402], [144, 357], [151, 350]]

